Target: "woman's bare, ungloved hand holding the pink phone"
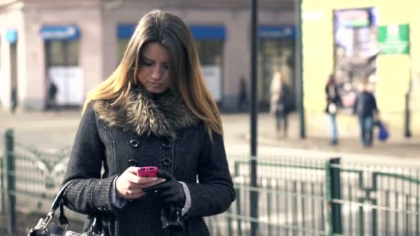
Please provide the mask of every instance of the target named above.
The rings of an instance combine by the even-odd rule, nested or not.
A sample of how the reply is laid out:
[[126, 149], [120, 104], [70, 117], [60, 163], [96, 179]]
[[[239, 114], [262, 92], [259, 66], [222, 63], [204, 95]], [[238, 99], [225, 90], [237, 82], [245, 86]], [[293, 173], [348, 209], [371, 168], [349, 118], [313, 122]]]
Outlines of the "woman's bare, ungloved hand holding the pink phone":
[[160, 184], [164, 179], [157, 177], [137, 176], [138, 167], [128, 167], [115, 183], [117, 197], [124, 199], [137, 199], [143, 197], [142, 188], [148, 188]]

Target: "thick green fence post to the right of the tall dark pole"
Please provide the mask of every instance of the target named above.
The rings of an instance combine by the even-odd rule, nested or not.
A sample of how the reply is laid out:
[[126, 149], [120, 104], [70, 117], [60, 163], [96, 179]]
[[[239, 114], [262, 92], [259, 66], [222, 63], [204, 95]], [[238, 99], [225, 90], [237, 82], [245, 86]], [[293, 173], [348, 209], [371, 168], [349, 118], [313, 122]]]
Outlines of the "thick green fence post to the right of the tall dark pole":
[[330, 235], [343, 234], [343, 222], [341, 216], [341, 204], [333, 203], [332, 199], [341, 199], [340, 168], [332, 165], [339, 165], [340, 158], [332, 158], [327, 163], [327, 196], [330, 201]]

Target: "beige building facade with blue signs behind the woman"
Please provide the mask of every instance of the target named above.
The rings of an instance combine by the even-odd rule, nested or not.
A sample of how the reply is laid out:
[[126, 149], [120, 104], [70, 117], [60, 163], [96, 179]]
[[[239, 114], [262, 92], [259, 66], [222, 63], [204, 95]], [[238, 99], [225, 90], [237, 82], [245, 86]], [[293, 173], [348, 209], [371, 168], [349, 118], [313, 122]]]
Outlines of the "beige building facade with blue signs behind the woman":
[[[1, 107], [44, 110], [51, 81], [59, 106], [81, 106], [86, 92], [116, 68], [140, 18], [155, 8], [186, 21], [213, 97], [222, 109], [235, 110], [250, 63], [249, 6], [239, 0], [0, 1]], [[259, 21], [264, 105], [274, 71], [294, 83], [293, 1], [260, 1]]]

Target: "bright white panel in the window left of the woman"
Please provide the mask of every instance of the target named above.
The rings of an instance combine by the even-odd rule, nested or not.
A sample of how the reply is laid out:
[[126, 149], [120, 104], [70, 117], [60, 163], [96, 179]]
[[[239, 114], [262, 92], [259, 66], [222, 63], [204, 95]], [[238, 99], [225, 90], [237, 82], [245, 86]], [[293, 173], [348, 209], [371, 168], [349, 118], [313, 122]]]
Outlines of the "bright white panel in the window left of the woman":
[[57, 105], [81, 106], [84, 102], [83, 71], [79, 66], [53, 66], [48, 76], [57, 86]]

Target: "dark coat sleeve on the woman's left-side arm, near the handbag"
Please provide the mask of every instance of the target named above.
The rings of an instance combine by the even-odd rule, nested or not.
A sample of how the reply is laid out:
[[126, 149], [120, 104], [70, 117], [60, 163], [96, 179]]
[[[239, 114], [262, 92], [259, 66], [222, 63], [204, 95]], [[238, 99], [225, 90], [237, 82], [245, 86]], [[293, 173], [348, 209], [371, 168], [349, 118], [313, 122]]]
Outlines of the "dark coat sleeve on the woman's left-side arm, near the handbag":
[[72, 181], [64, 192], [64, 203], [78, 213], [113, 213], [111, 184], [116, 176], [101, 179], [105, 147], [98, 129], [95, 111], [88, 105], [80, 121], [71, 150], [64, 183]]

